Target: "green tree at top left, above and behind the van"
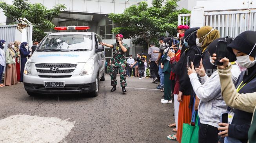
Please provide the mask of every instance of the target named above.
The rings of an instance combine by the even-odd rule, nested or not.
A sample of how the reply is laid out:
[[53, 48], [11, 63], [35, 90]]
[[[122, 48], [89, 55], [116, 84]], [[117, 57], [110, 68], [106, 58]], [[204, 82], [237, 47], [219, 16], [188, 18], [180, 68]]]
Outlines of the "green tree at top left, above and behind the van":
[[42, 4], [30, 4], [27, 0], [14, 0], [13, 5], [0, 2], [0, 8], [7, 18], [13, 22], [18, 18], [26, 18], [33, 24], [33, 41], [40, 41], [46, 35], [45, 29], [53, 29], [55, 25], [51, 22], [61, 11], [66, 9], [64, 5], [56, 5], [53, 9], [47, 9]]

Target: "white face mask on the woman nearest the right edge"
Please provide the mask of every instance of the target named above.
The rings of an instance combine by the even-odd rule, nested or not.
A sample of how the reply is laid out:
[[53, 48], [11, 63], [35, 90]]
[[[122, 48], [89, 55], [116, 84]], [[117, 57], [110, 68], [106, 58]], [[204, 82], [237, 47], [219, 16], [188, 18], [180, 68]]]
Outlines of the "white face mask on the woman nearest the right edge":
[[[256, 45], [256, 43], [254, 44], [254, 47], [252, 48], [249, 55], [251, 55], [253, 49], [255, 48], [255, 45]], [[256, 59], [254, 57], [254, 61], [251, 61], [249, 55], [243, 55], [243, 56], [236, 57], [236, 60], [240, 64], [240, 66], [242, 66], [244, 68], [251, 68], [252, 66], [254, 66], [254, 64], [256, 63]]]

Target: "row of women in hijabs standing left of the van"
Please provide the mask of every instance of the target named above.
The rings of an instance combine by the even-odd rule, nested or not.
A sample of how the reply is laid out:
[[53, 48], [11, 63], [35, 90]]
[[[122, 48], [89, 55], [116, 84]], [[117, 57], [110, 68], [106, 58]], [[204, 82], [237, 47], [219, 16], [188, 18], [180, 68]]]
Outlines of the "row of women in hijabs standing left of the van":
[[25, 63], [37, 45], [38, 42], [34, 42], [28, 50], [27, 42], [9, 42], [6, 47], [5, 40], [0, 40], [0, 87], [23, 82]]

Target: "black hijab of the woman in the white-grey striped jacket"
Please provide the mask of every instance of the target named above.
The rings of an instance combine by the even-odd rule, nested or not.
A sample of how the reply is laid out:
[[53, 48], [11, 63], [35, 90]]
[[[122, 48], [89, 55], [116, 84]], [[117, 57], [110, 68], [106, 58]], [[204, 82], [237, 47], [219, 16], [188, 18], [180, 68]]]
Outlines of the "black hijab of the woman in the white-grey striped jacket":
[[[219, 40], [227, 41], [227, 45], [229, 45], [233, 41], [233, 39], [231, 37], [218, 38], [218, 39], [215, 39], [214, 41], [212, 41], [212, 43], [207, 46], [208, 51], [211, 56], [212, 56], [212, 54], [216, 53], [216, 48], [217, 48], [217, 44], [218, 44]], [[225, 57], [229, 59], [229, 62], [236, 61], [236, 56], [234, 55], [234, 53], [233, 52], [231, 53], [227, 49], [226, 49]]]

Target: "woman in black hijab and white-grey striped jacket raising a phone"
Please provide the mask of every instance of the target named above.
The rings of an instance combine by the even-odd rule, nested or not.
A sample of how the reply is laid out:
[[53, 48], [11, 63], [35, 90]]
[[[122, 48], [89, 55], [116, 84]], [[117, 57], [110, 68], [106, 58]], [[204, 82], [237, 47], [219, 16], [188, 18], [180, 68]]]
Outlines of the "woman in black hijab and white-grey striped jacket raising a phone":
[[[210, 55], [216, 51], [218, 41], [232, 41], [232, 38], [219, 38], [208, 46], [208, 52]], [[236, 61], [236, 57], [228, 50], [225, 53], [225, 57], [229, 58], [231, 62]], [[211, 56], [208, 57], [211, 63]], [[212, 63], [213, 64], [213, 63]], [[232, 68], [232, 82], [235, 83], [239, 74], [240, 69], [238, 66]], [[200, 80], [198, 79], [198, 75]], [[227, 105], [225, 104], [220, 86], [220, 77], [218, 71], [214, 71], [210, 77], [208, 77], [203, 68], [202, 61], [200, 67], [194, 69], [193, 63], [191, 68], [188, 69], [188, 75], [194, 89], [194, 93], [200, 99], [198, 107], [198, 115], [200, 117], [199, 127], [199, 143], [217, 143], [218, 142], [218, 123], [220, 122], [221, 113], [227, 111]]]

